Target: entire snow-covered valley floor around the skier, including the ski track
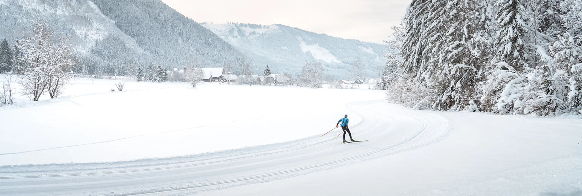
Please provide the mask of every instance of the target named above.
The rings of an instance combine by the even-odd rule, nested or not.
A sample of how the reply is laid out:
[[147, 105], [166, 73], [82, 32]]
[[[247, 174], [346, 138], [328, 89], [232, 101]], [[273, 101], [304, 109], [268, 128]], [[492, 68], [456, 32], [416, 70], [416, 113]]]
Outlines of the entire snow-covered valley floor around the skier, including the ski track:
[[[582, 195], [573, 117], [417, 111], [368, 89], [116, 82], [0, 108], [0, 195]], [[320, 137], [344, 114], [370, 141]]]

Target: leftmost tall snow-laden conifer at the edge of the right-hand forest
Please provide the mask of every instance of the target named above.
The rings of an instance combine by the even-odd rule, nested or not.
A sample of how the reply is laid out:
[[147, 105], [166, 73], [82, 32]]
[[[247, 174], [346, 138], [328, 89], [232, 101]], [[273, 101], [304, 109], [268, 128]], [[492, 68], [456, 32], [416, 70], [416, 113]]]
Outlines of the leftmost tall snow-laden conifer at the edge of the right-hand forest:
[[[432, 89], [432, 86], [435, 85], [434, 82], [438, 81], [437, 77], [442, 72], [442, 65], [438, 58], [439, 52], [445, 47], [440, 38], [448, 30], [446, 9], [443, 9], [446, 2], [442, 0], [413, 0], [410, 3], [406, 16], [404, 16], [406, 41], [403, 42], [400, 52], [403, 57], [402, 86], [416, 86], [398, 89], [399, 93], [417, 94], [420, 93], [417, 89]], [[421, 97], [420, 99], [407, 100], [412, 101], [410, 104], [414, 104], [415, 108], [434, 108], [433, 103], [438, 96], [434, 90], [427, 90], [423, 91], [421, 95], [411, 95], [411, 97]], [[403, 99], [407, 98], [403, 97]]]

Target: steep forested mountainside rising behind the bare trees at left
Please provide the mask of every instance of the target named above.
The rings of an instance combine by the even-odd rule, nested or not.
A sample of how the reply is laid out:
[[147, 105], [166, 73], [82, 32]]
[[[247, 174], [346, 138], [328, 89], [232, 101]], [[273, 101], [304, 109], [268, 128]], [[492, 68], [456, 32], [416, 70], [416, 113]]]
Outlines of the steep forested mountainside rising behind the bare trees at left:
[[0, 16], [0, 38], [10, 42], [29, 34], [34, 22], [47, 22], [70, 39], [82, 65], [76, 71], [86, 74], [127, 75], [134, 65], [158, 62], [214, 67], [247, 58], [159, 0], [0, 0]]

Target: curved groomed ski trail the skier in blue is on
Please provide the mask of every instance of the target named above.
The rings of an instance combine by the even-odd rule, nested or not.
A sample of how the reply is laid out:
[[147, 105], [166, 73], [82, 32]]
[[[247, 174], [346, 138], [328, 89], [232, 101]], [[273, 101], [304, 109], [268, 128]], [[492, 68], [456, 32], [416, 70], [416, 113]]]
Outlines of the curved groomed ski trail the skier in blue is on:
[[0, 168], [0, 195], [193, 194], [357, 164], [423, 147], [447, 135], [446, 122], [435, 122], [443, 118], [427, 118], [434, 114], [394, 108], [385, 101], [360, 101], [348, 107], [363, 117], [362, 122], [350, 126], [354, 139], [370, 141], [338, 145], [340, 139], [314, 136], [307, 141], [254, 148], [251, 153], [240, 154], [236, 150], [217, 153], [220, 155], [216, 158], [204, 160], [193, 157], [184, 161], [186, 157], [180, 161], [120, 163], [122, 166], [93, 164], [94, 168], [83, 168], [80, 164], [74, 170], [42, 166], [20, 169], [26, 172], [6, 172]]

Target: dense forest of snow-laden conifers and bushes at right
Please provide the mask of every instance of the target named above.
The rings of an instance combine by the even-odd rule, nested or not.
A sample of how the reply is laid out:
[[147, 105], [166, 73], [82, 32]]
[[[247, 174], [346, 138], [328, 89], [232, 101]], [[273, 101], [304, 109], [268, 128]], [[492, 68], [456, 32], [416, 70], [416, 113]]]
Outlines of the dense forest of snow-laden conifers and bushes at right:
[[580, 114], [580, 10], [578, 0], [413, 0], [386, 41], [379, 86], [418, 109]]

